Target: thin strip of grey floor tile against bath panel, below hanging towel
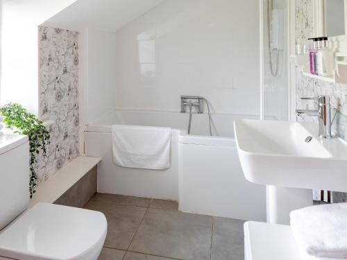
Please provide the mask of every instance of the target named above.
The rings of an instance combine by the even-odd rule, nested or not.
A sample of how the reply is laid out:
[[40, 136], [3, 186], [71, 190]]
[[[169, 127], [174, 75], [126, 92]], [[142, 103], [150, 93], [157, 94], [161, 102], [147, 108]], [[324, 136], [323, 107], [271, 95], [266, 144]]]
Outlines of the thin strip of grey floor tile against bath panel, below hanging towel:
[[151, 203], [150, 198], [139, 198], [132, 196], [124, 196], [124, 195], [115, 195], [108, 193], [96, 193], [92, 200], [103, 201], [103, 202], [112, 202], [116, 204], [122, 205], [132, 205], [139, 207], [149, 207]]

